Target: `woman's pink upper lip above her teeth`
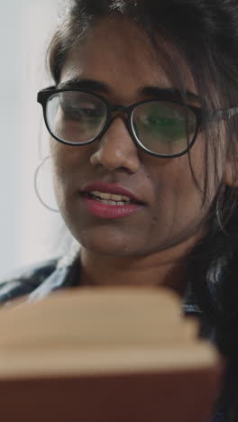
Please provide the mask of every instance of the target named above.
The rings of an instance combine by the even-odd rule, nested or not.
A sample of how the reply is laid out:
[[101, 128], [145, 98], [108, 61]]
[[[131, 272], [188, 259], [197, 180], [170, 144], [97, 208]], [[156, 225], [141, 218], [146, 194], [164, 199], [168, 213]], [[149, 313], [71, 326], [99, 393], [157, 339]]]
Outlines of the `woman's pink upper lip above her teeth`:
[[99, 192], [109, 193], [112, 195], [121, 195], [124, 197], [129, 197], [133, 201], [137, 202], [138, 204], [142, 205], [143, 201], [140, 197], [137, 197], [133, 194], [130, 190], [123, 188], [120, 185], [116, 185], [114, 183], [106, 183], [103, 181], [95, 181], [88, 183], [85, 188], [81, 190], [81, 193], [90, 193], [94, 190], [98, 190]]

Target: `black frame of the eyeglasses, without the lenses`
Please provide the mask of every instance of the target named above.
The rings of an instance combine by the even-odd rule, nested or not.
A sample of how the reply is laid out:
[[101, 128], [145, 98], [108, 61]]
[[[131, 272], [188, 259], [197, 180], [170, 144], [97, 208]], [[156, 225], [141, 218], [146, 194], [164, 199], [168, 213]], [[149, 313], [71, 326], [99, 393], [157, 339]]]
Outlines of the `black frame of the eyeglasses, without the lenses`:
[[[56, 136], [54, 133], [52, 133], [52, 131], [50, 129], [50, 125], [48, 124], [47, 103], [48, 103], [50, 96], [53, 96], [54, 94], [60, 94], [61, 92], [72, 92], [72, 91], [82, 92], [84, 94], [95, 96], [97, 99], [102, 101], [102, 103], [104, 103], [105, 107], [106, 107], [107, 115], [106, 115], [104, 128], [101, 130], [100, 133], [98, 133], [96, 135], [95, 138], [93, 138], [93, 139], [91, 139], [90, 141], [87, 141], [87, 142], [67, 142], [67, 141], [64, 141], [64, 140], [60, 139], [58, 136]], [[191, 110], [193, 112], [193, 114], [196, 116], [196, 129], [195, 129], [193, 139], [188, 144], [188, 147], [184, 151], [178, 152], [176, 154], [171, 154], [171, 155], [159, 154], [157, 152], [153, 152], [153, 151], [147, 149], [142, 144], [142, 142], [137, 138], [136, 134], [133, 133], [133, 122], [132, 122], [133, 110], [139, 105], [146, 104], [146, 103], [160, 102], [160, 101], [167, 101], [169, 103], [182, 105], [182, 106], [188, 108], [189, 110]], [[71, 145], [71, 146], [84, 146], [84, 145], [88, 145], [90, 143], [96, 142], [96, 141], [98, 141], [99, 139], [102, 138], [102, 136], [108, 130], [110, 125], [113, 123], [114, 118], [117, 115], [124, 114], [124, 115], [126, 115], [126, 119], [124, 119], [124, 124], [125, 124], [128, 132], [130, 133], [130, 136], [132, 137], [135, 145], [138, 146], [142, 151], [152, 155], [153, 157], [164, 158], [164, 159], [177, 158], [177, 157], [181, 157], [182, 155], [187, 154], [188, 151], [192, 148], [192, 146], [196, 142], [197, 134], [202, 130], [205, 118], [206, 118], [206, 121], [213, 122], [213, 121], [222, 120], [224, 118], [224, 112], [230, 111], [232, 116], [234, 114], [238, 113], [238, 107], [215, 110], [215, 112], [212, 112], [212, 113], [205, 112], [205, 110], [203, 110], [203, 108], [200, 108], [200, 107], [197, 107], [197, 106], [194, 106], [194, 105], [184, 105], [181, 101], [171, 99], [171, 95], [168, 92], [162, 92], [160, 94], [160, 96], [158, 96], [156, 98], [153, 98], [151, 100], [142, 100], [142, 101], [139, 101], [139, 102], [134, 103], [132, 105], [117, 105], [117, 104], [114, 104], [111, 101], [107, 100], [103, 96], [99, 96], [98, 94], [92, 93], [90, 90], [87, 90], [87, 89], [75, 88], [75, 87], [57, 88], [55, 86], [52, 86], [52, 87], [47, 87], [47, 88], [41, 89], [41, 91], [38, 92], [37, 102], [40, 103], [41, 106], [42, 106], [44, 122], [46, 124], [46, 127], [47, 127], [50, 135], [56, 141], [58, 141], [60, 143], [64, 143], [65, 145]]]

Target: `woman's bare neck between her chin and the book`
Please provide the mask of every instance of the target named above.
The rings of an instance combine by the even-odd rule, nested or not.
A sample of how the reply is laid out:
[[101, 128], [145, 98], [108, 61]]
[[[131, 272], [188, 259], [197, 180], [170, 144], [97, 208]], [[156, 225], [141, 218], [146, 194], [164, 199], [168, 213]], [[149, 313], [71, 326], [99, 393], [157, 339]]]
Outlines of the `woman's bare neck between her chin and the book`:
[[143, 257], [111, 257], [81, 249], [81, 283], [89, 286], [161, 286], [180, 296], [187, 287], [187, 257], [194, 242]]

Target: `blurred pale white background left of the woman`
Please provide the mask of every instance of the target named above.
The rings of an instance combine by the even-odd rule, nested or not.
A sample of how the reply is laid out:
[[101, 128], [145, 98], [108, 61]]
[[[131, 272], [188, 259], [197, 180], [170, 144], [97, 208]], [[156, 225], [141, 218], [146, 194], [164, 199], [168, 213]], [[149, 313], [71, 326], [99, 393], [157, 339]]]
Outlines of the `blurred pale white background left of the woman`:
[[[48, 143], [37, 91], [50, 85], [45, 51], [57, 24], [57, 0], [0, 0], [1, 218], [0, 279], [59, 254], [59, 214], [41, 206], [33, 177]], [[43, 152], [44, 155], [44, 152]]]

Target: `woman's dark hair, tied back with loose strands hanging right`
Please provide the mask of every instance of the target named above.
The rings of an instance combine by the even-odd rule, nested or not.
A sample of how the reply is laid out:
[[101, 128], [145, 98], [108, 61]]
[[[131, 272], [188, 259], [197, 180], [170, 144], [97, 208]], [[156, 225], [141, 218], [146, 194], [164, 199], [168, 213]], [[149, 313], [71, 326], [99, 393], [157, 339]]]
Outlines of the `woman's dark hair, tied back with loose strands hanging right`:
[[[177, 65], [178, 57], [185, 60], [205, 109], [213, 111], [238, 106], [237, 0], [68, 1], [62, 7], [59, 27], [49, 48], [50, 72], [56, 85], [72, 47], [99, 19], [115, 15], [138, 25], [150, 37], [154, 48], [162, 51], [169, 65], [169, 76], [178, 85], [185, 102], [186, 76]], [[168, 42], [177, 54], [166, 50], [164, 46]], [[217, 162], [219, 154], [223, 161], [233, 160], [233, 180], [238, 179], [238, 166], [234, 159], [238, 156], [238, 114], [227, 114], [223, 123], [224, 131], [219, 131], [218, 124], [218, 128], [213, 125], [211, 130], [205, 123], [204, 183], [198, 186], [195, 179], [195, 184], [205, 202], [209, 196], [207, 154], [212, 148], [216, 195], [207, 215], [208, 233], [189, 256], [188, 277], [204, 316], [215, 326], [216, 344], [228, 358], [220, 407], [229, 408], [226, 421], [237, 421], [238, 189], [224, 186]], [[218, 273], [218, 270], [223, 272], [223, 276], [214, 277], [211, 289], [207, 274], [211, 271]]]

